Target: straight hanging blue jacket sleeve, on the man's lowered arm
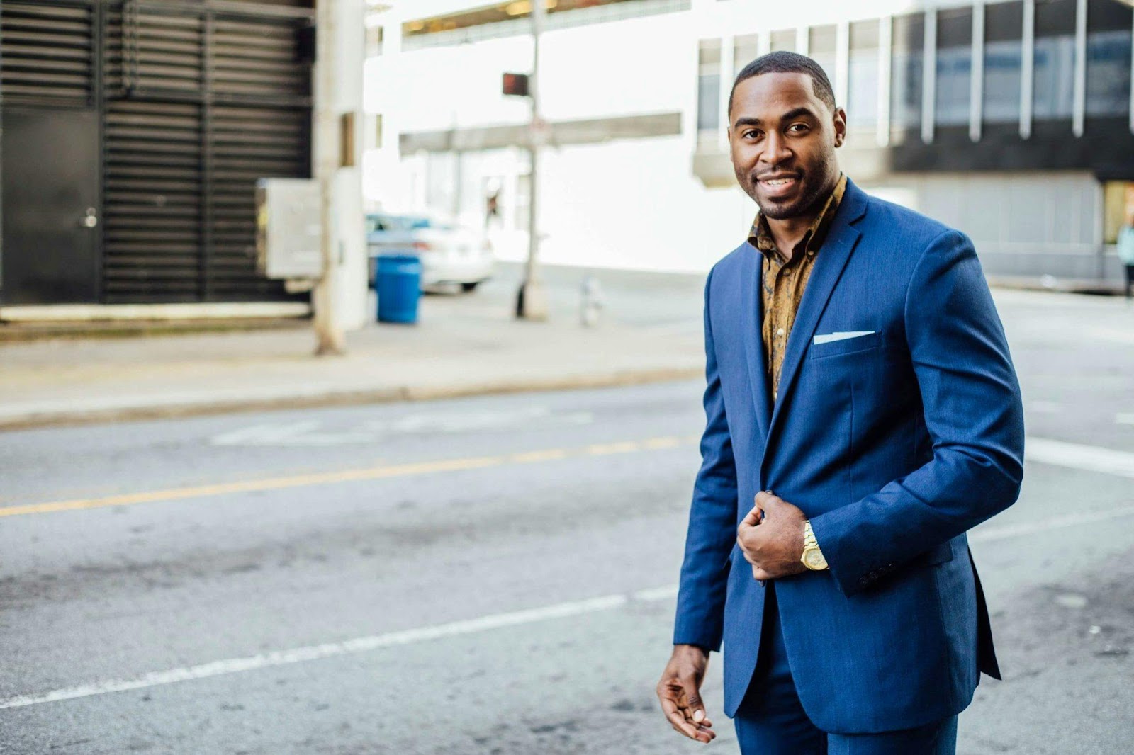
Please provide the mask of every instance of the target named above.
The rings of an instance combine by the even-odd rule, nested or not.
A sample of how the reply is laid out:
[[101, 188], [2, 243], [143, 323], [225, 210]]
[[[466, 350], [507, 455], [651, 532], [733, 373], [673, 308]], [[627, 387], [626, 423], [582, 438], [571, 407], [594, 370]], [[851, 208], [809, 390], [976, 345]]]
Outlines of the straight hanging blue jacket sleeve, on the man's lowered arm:
[[725, 416], [709, 316], [711, 288], [712, 272], [705, 282], [705, 430], [701, 436], [701, 468], [689, 507], [674, 644], [719, 650], [725, 623], [729, 553], [736, 544], [737, 489], [733, 441]]

